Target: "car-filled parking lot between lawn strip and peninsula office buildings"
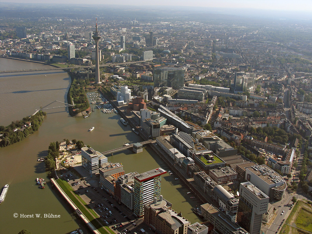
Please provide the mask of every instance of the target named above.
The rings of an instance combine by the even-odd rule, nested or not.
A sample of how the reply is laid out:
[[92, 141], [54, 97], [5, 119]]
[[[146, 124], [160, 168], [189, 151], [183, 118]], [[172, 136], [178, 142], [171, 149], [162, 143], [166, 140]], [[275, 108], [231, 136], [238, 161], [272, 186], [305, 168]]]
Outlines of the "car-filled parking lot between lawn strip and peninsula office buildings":
[[[85, 180], [80, 180], [71, 172], [61, 175], [74, 192], [78, 194], [93, 209], [102, 220], [103, 225], [109, 226], [115, 233], [126, 234], [140, 232], [140, 229], [148, 229], [143, 219], [137, 219], [133, 212], [123, 204], [119, 204], [105, 190], [99, 187], [99, 183], [93, 183], [90, 186]], [[95, 180], [93, 178], [93, 180]]]

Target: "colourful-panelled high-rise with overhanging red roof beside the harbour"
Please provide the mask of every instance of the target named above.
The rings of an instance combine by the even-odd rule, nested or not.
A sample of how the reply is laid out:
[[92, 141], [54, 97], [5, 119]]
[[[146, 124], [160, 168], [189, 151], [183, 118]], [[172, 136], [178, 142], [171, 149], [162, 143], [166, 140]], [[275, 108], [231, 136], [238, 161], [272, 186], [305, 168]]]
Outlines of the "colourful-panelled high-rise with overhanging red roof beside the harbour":
[[166, 171], [157, 168], [134, 176], [134, 214], [144, 215], [144, 204], [159, 199], [161, 190], [161, 175]]

